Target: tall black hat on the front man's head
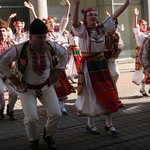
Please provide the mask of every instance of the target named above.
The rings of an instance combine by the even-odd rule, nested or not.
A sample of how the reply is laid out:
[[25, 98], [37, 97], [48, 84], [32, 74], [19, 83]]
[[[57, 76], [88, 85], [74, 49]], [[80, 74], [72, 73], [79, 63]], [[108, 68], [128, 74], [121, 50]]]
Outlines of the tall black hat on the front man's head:
[[35, 19], [29, 27], [30, 34], [47, 34], [47, 26], [40, 19]]

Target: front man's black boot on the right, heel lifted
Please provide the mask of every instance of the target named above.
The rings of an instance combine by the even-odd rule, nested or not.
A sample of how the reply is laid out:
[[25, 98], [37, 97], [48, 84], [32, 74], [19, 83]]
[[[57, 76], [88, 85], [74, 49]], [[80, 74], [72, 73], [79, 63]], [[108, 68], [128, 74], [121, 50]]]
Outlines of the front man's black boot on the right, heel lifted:
[[50, 150], [56, 150], [56, 149], [57, 149], [57, 148], [56, 148], [56, 145], [55, 145], [55, 142], [53, 141], [53, 137], [51, 137], [51, 136], [47, 136], [47, 137], [46, 137], [45, 128], [44, 128], [44, 133], [43, 133], [43, 139], [44, 139], [45, 143], [47, 143], [48, 148], [49, 148]]

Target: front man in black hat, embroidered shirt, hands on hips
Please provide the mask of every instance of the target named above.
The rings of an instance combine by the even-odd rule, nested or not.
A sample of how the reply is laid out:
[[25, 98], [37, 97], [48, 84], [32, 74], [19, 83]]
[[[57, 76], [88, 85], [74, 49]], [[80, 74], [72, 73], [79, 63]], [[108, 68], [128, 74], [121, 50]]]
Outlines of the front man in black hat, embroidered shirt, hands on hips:
[[[34, 150], [39, 149], [37, 98], [46, 108], [47, 122], [43, 139], [49, 149], [56, 149], [53, 135], [62, 115], [54, 84], [68, 62], [68, 53], [57, 43], [46, 41], [47, 27], [35, 19], [29, 28], [30, 40], [8, 49], [0, 57], [1, 72], [18, 90], [24, 112], [24, 125]], [[57, 57], [57, 62], [56, 62]], [[7, 65], [16, 62], [12, 73]]]

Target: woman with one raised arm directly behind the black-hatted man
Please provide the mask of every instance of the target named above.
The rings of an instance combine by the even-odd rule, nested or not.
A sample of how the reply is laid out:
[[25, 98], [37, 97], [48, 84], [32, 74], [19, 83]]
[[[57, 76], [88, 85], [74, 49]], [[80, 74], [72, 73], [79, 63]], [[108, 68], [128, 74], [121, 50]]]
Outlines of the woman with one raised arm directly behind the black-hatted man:
[[[62, 46], [63, 46], [62, 39], [64, 39], [62, 34], [64, 33], [65, 28], [69, 21], [69, 12], [71, 6], [69, 0], [66, 0], [66, 5], [67, 5], [67, 9], [65, 15], [61, 19], [59, 29], [56, 30], [56, 22], [54, 17], [49, 16], [47, 19], [43, 19], [48, 29], [48, 35], [47, 35], [48, 40], [57, 42]], [[67, 99], [67, 95], [71, 94], [72, 92], [75, 92], [75, 90], [73, 86], [70, 84], [70, 82], [68, 81], [65, 71], [61, 74], [57, 84], [55, 84], [55, 91], [59, 99], [61, 112], [63, 115], [67, 115], [68, 113], [66, 111], [64, 101]]]

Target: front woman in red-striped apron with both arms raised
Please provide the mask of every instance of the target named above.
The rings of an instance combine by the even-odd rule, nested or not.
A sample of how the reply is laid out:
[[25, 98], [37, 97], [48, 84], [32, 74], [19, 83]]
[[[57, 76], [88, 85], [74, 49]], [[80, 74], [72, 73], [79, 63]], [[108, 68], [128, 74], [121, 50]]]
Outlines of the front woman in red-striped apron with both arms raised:
[[82, 53], [78, 75], [78, 97], [75, 108], [80, 116], [87, 116], [86, 129], [100, 134], [94, 117], [106, 115], [105, 130], [118, 134], [112, 123], [112, 113], [119, 109], [118, 94], [104, 59], [105, 34], [115, 29], [115, 20], [130, 4], [125, 3], [102, 24], [98, 24], [97, 12], [89, 8], [82, 10], [83, 23], [78, 20], [80, 0], [74, 0], [73, 32], [79, 37]]

